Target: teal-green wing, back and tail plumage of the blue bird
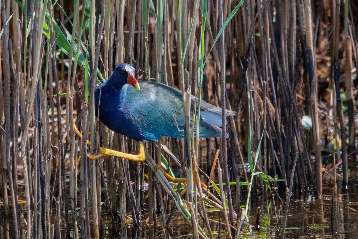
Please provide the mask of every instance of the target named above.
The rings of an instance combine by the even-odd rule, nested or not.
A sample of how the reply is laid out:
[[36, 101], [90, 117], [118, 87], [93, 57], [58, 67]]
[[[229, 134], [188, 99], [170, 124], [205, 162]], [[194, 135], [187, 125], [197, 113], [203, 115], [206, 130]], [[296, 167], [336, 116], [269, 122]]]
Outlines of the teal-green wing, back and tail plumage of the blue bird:
[[[157, 82], [140, 81], [139, 83], [140, 90], [136, 90], [130, 85], [125, 85], [122, 89], [121, 107], [123, 107], [123, 111], [127, 112], [126, 117], [131, 118], [131, 122], [147, 140], [159, 140], [161, 135], [183, 138], [182, 92]], [[192, 99], [191, 112], [193, 107], [194, 99]], [[202, 109], [219, 113], [221, 117], [221, 109], [211, 104], [203, 102]], [[233, 111], [229, 111], [227, 115], [231, 113]], [[191, 115], [191, 121], [192, 118]], [[194, 134], [196, 134], [195, 127]], [[200, 117], [199, 137], [221, 137], [221, 128], [205, 122]]]

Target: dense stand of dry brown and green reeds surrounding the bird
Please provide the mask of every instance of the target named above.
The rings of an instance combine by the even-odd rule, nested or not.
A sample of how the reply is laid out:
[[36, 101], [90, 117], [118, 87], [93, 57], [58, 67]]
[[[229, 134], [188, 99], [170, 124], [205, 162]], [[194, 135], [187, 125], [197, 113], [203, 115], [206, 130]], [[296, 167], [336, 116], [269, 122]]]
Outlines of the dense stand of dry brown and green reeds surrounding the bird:
[[[82, 238], [98, 238], [102, 211], [108, 211], [117, 232], [128, 217], [133, 224], [143, 225], [144, 208], [149, 210], [150, 223], [167, 226], [174, 210], [193, 225], [195, 238], [213, 238], [209, 221], [217, 224], [218, 220], [210, 218], [211, 211], [224, 213], [226, 228], [237, 228], [235, 211], [240, 208], [235, 207], [245, 205], [245, 216], [250, 215], [253, 190], [270, 200], [270, 189], [279, 196], [276, 187], [290, 186], [291, 191], [291, 186], [309, 186], [315, 178], [315, 191], [321, 194], [320, 133], [324, 129], [319, 127], [318, 94], [320, 88], [327, 87], [317, 79], [324, 77], [330, 77], [333, 90], [335, 132], [328, 136], [334, 137], [337, 145], [342, 142], [342, 156], [338, 146], [334, 160], [342, 158], [346, 185], [346, 152], [355, 145], [356, 96], [350, 90], [355, 72], [351, 71], [357, 67], [349, 1], [345, 1], [342, 18], [344, 30], [339, 28], [343, 23], [337, 0], [332, 6], [322, 3], [319, 9], [323, 10], [317, 13], [312, 13], [308, 0], [280, 3], [1, 1], [0, 213], [11, 212], [14, 238], [23, 236], [18, 230], [23, 221], [27, 238], [52, 238], [63, 231], [75, 238], [79, 232]], [[328, 22], [331, 25], [326, 27]], [[344, 44], [340, 44], [342, 39]], [[345, 67], [340, 67], [342, 55]], [[327, 58], [330, 62], [316, 61]], [[134, 64], [140, 80], [155, 79], [183, 90], [186, 137], [163, 137], [161, 142], [146, 144], [144, 163], [115, 157], [89, 161], [87, 150], [96, 153], [100, 144], [128, 153], [137, 150], [135, 142], [107, 130], [94, 114], [98, 110], [93, 104], [95, 86], [121, 62]], [[329, 75], [320, 72], [323, 67], [330, 68], [325, 70]], [[349, 148], [342, 110], [345, 102], [340, 100], [341, 71], [345, 71]], [[190, 112], [191, 94], [198, 96], [194, 112]], [[228, 133], [229, 138], [222, 143], [194, 140], [190, 124], [199, 126], [202, 99], [223, 111], [238, 112], [227, 119], [223, 134]], [[312, 130], [301, 127], [305, 114], [313, 120]], [[72, 128], [75, 119], [83, 138], [93, 147], [88, 147], [86, 140], [77, 141]], [[217, 149], [220, 154], [214, 157]], [[315, 163], [310, 162], [311, 154]], [[238, 170], [237, 158], [243, 172]], [[292, 159], [297, 159], [297, 164]], [[217, 167], [212, 167], [216, 160]], [[155, 170], [157, 163], [165, 164], [172, 176], [175, 168], [181, 168], [180, 177], [187, 177], [187, 188], [169, 182]], [[222, 176], [218, 172], [219, 178], [215, 168], [223, 171]], [[21, 169], [23, 173], [19, 173]], [[279, 183], [280, 178], [285, 182]], [[200, 180], [209, 181], [212, 187], [202, 188]], [[149, 183], [148, 193], [142, 191], [144, 182]], [[246, 186], [244, 195], [248, 195], [243, 202], [237, 191], [241, 185]], [[182, 197], [173, 188], [181, 190]], [[232, 190], [237, 195], [235, 206]], [[334, 191], [337, 193], [337, 185]], [[25, 200], [22, 213], [16, 211], [20, 200]], [[62, 230], [64, 224], [66, 230]]]

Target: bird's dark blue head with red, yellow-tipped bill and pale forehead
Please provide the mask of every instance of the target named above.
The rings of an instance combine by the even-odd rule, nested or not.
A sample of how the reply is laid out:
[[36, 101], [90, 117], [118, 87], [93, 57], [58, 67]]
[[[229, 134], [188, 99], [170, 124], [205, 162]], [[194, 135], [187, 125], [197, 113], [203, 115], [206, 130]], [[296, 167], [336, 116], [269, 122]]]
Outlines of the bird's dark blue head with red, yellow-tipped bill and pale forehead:
[[134, 67], [127, 63], [119, 64], [113, 71], [112, 77], [115, 76], [115, 81], [122, 87], [124, 84], [129, 84], [140, 90], [139, 83], [134, 77]]

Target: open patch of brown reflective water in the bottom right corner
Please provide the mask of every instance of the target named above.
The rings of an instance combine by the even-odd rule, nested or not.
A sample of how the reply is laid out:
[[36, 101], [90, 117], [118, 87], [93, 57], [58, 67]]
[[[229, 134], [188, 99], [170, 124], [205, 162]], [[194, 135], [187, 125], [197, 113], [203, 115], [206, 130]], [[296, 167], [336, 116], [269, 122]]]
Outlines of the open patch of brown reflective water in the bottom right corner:
[[[328, 190], [329, 189], [327, 189], [327, 192]], [[338, 196], [336, 195], [338, 206], [336, 221], [337, 238], [357, 238], [357, 199], [358, 194], [356, 192], [345, 192], [338, 194]], [[280, 227], [282, 227], [284, 220], [285, 206], [285, 203], [279, 204], [279, 201], [276, 200], [277, 220]], [[265, 205], [261, 206], [261, 230], [255, 232], [253, 228], [243, 226], [242, 233], [246, 236], [245, 238], [281, 238], [280, 230], [275, 230], [276, 217], [272, 211], [273, 207], [270, 207], [270, 221], [267, 217], [267, 210], [265, 210], [264, 207]], [[331, 209], [332, 198], [328, 193], [321, 198], [301, 195], [300, 197], [296, 197], [296, 200], [291, 200], [285, 238], [331, 238]], [[255, 215], [255, 213], [251, 211], [250, 215], [252, 215], [250, 224], [254, 225], [256, 218], [253, 215]]]

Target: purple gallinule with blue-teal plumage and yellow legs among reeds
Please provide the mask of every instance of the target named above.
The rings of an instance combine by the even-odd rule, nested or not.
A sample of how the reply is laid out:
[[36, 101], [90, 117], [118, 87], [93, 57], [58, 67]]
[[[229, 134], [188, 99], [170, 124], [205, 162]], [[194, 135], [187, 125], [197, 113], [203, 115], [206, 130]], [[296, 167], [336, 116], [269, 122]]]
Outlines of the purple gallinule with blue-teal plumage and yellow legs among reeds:
[[[100, 154], [87, 154], [90, 159], [106, 155], [144, 161], [144, 143], [161, 136], [183, 138], [183, 93], [173, 87], [152, 81], [137, 81], [134, 67], [119, 64], [108, 80], [95, 91], [95, 114], [109, 129], [139, 141], [139, 154], [132, 155], [100, 147]], [[191, 113], [195, 96], [191, 100]], [[226, 110], [227, 116], [236, 113]], [[190, 117], [192, 119], [192, 117]], [[221, 108], [202, 101], [199, 138], [221, 137]], [[76, 133], [80, 135], [77, 128]], [[194, 126], [194, 135], [197, 129]]]

